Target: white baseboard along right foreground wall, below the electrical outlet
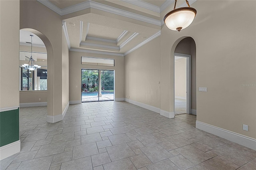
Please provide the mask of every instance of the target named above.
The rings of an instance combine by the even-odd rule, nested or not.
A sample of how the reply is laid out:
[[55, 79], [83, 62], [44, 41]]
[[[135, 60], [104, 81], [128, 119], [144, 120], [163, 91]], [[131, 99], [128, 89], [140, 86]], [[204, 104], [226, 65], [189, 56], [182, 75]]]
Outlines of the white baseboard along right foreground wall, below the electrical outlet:
[[208, 133], [214, 134], [226, 140], [230, 140], [231, 142], [240, 144], [247, 148], [256, 150], [256, 139], [244, 136], [242, 134], [238, 134], [235, 132], [231, 132], [229, 130], [225, 130], [223, 128], [215, 127], [206, 123], [202, 123], [200, 121], [196, 121], [196, 128], [200, 130], [204, 130]]

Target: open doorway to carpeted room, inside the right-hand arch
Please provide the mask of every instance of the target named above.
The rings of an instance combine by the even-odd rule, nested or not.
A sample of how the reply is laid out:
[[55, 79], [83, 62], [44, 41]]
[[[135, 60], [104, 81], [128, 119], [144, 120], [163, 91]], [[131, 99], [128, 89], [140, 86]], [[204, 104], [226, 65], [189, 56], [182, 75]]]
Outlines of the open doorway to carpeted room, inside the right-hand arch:
[[190, 55], [174, 53], [174, 113], [190, 114]]

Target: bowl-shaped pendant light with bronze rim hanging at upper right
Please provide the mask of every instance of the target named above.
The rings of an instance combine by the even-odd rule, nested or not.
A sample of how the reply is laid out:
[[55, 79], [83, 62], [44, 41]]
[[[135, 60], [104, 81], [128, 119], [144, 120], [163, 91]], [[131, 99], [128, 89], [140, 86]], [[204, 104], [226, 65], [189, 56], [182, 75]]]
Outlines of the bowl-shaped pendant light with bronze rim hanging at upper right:
[[175, 0], [174, 9], [164, 16], [164, 23], [170, 30], [178, 30], [180, 32], [180, 30], [187, 28], [193, 22], [196, 16], [196, 9], [190, 7], [188, 0], [186, 0], [188, 7], [175, 9], [176, 2], [177, 0]]

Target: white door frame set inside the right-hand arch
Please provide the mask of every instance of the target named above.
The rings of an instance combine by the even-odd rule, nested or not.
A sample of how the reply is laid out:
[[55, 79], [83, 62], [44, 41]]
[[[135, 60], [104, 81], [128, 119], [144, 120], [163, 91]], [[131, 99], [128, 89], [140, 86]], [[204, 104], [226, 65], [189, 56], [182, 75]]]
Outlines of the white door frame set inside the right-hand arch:
[[174, 53], [174, 115], [175, 115], [175, 56], [177, 57], [186, 57], [186, 113], [191, 114], [191, 55], [188, 54], [182, 54], [182, 53]]

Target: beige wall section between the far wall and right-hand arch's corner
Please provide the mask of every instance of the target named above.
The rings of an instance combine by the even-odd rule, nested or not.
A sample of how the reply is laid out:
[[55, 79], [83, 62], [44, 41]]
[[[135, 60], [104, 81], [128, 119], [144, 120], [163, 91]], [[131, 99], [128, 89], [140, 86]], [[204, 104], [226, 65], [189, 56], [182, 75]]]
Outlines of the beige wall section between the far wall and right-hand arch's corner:
[[160, 36], [124, 57], [125, 98], [160, 108]]

